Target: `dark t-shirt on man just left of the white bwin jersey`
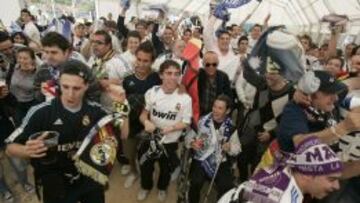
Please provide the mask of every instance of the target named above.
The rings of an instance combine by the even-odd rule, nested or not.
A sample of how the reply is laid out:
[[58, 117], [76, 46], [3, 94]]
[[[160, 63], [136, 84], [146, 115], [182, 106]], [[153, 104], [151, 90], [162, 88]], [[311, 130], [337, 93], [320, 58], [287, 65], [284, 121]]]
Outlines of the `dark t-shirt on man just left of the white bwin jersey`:
[[131, 112], [129, 115], [130, 137], [138, 134], [143, 129], [143, 126], [139, 121], [139, 115], [145, 105], [144, 95], [146, 91], [148, 91], [153, 86], [160, 84], [161, 79], [159, 74], [155, 72], [150, 73], [150, 75], [145, 80], [139, 80], [135, 74], [125, 77], [123, 81], [123, 87], [131, 107]]

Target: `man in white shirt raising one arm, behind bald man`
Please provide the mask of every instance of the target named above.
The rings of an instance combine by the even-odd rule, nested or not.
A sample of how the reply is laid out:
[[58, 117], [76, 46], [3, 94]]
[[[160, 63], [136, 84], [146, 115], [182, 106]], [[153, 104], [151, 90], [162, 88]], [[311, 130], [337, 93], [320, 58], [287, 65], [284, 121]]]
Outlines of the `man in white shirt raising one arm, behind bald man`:
[[[204, 45], [206, 51], [214, 51], [219, 57], [218, 70], [225, 72], [230, 81], [234, 80], [236, 69], [239, 66], [239, 58], [230, 46], [231, 36], [226, 30], [221, 30], [214, 38], [215, 16], [211, 16], [204, 28]], [[214, 42], [217, 41], [215, 44]]]

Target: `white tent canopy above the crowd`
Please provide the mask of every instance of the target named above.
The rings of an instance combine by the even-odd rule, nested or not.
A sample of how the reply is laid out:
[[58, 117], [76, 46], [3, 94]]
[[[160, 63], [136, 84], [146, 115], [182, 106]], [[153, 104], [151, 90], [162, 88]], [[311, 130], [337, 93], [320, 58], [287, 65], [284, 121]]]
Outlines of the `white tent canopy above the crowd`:
[[[97, 0], [99, 8], [104, 12], [109, 12], [111, 8], [117, 15], [118, 0]], [[170, 13], [180, 15], [187, 11], [191, 14], [199, 15], [204, 21], [209, 13], [209, 3], [211, 0], [140, 0], [132, 1], [132, 15], [140, 13], [143, 8], [151, 4], [166, 4], [170, 8]], [[134, 3], [137, 2], [137, 3]], [[110, 6], [112, 4], [112, 6]], [[116, 5], [115, 5], [116, 4]], [[270, 25], [286, 25], [289, 30], [295, 33], [311, 33], [315, 38], [321, 38], [321, 34], [329, 33], [328, 24], [321, 23], [321, 18], [330, 13], [347, 15], [350, 23], [346, 35], [359, 35], [360, 32], [360, 0], [262, 0], [258, 5], [257, 0], [237, 8], [230, 9], [231, 20], [229, 23], [239, 24], [247, 15], [252, 13], [248, 24], [262, 24], [264, 18], [271, 14]], [[105, 13], [100, 12], [100, 15]], [[360, 40], [360, 39], [358, 39]]]

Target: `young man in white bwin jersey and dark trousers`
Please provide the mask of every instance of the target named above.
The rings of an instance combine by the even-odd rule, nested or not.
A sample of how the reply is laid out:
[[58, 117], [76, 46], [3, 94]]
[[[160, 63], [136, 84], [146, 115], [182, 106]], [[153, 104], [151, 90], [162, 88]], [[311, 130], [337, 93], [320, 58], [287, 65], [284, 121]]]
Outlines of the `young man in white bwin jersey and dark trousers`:
[[[159, 162], [160, 175], [157, 187], [158, 199], [165, 201], [166, 190], [170, 182], [170, 162], [176, 156], [178, 139], [181, 132], [191, 122], [191, 98], [187, 94], [179, 93], [179, 79], [181, 70], [178, 63], [172, 60], [165, 61], [160, 66], [161, 86], [155, 86], [145, 94], [145, 109], [140, 121], [145, 131], [152, 133], [156, 128], [161, 130], [164, 137], [160, 141], [166, 153], [157, 159], [150, 159], [140, 164], [141, 189], [137, 199], [144, 200], [153, 187], [153, 172], [155, 161]], [[145, 146], [146, 147], [146, 146]], [[147, 149], [139, 149], [139, 155], [146, 153]]]

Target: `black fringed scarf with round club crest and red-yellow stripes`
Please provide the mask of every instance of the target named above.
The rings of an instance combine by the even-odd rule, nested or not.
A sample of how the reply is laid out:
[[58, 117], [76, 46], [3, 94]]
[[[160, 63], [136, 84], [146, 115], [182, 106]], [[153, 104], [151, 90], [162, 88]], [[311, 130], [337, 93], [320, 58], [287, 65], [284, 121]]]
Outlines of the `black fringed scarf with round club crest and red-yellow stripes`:
[[118, 139], [115, 137], [113, 122], [122, 122], [121, 114], [101, 118], [85, 137], [74, 155], [78, 171], [96, 182], [107, 185], [108, 176], [116, 159]]

